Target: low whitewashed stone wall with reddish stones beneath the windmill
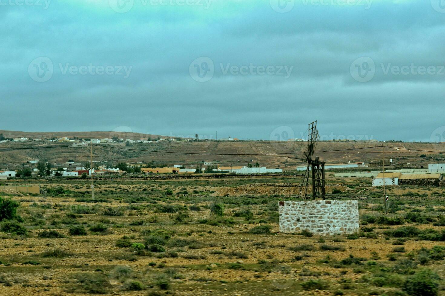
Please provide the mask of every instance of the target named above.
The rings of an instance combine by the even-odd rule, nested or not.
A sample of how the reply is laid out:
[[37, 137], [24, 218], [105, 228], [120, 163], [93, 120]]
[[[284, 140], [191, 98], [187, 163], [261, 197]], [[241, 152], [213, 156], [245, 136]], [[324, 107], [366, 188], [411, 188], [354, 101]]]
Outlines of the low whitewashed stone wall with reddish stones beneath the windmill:
[[359, 230], [358, 201], [279, 201], [279, 230], [317, 235], [351, 234]]

